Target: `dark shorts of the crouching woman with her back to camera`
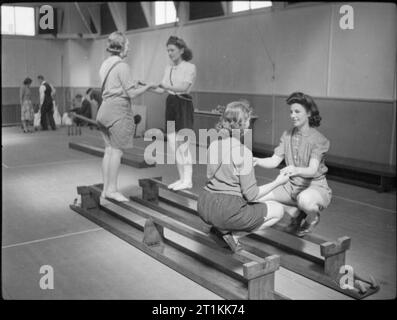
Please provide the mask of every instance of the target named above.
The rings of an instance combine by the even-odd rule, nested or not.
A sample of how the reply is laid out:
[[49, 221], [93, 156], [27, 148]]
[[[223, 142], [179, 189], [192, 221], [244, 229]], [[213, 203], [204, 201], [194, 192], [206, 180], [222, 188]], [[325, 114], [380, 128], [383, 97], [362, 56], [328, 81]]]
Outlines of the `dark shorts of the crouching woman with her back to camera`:
[[249, 203], [239, 196], [207, 190], [199, 195], [197, 210], [206, 223], [224, 231], [251, 232], [267, 215], [265, 203]]

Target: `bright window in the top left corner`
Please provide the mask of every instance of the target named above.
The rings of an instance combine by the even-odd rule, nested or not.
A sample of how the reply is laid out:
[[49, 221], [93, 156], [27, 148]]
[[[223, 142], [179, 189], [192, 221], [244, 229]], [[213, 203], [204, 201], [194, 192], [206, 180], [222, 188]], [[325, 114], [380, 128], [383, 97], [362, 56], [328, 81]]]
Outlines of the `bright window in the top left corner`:
[[1, 34], [35, 35], [34, 8], [1, 6]]

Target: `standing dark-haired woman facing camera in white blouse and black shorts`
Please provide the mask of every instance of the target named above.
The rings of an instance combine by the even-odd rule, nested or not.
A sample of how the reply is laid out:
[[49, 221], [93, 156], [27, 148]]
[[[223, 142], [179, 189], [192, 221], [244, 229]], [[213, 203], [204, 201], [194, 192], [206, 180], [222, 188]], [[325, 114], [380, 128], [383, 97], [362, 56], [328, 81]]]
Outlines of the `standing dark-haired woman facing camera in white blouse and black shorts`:
[[182, 190], [192, 187], [193, 165], [189, 150], [190, 142], [180, 141], [178, 131], [193, 130], [193, 102], [190, 91], [196, 79], [196, 66], [188, 61], [193, 57], [192, 51], [181, 38], [171, 36], [167, 41], [167, 51], [171, 59], [164, 72], [158, 93], [168, 92], [165, 111], [165, 127], [173, 121], [175, 132], [167, 132], [167, 140], [172, 154], [176, 155], [179, 179], [168, 188]]

